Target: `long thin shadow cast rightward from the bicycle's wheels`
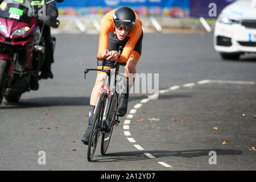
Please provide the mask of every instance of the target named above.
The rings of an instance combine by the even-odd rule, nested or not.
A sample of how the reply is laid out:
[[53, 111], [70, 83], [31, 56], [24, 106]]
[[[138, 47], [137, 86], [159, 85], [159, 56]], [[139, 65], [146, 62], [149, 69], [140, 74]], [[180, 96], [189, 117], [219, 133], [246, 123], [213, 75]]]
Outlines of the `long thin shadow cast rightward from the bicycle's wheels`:
[[[109, 153], [104, 156], [98, 155], [97, 159], [93, 162], [123, 162], [133, 160], [145, 160], [148, 158], [144, 153], [149, 153], [155, 158], [163, 157], [182, 157], [182, 158], [196, 158], [199, 156], [208, 156], [210, 151], [215, 151], [217, 155], [241, 155], [242, 151], [233, 149], [202, 149], [202, 150], [184, 150], [184, 151], [167, 151], [167, 150], [154, 150], [154, 151], [129, 151]], [[100, 159], [98, 159], [100, 158]]]

